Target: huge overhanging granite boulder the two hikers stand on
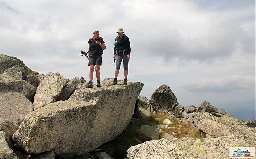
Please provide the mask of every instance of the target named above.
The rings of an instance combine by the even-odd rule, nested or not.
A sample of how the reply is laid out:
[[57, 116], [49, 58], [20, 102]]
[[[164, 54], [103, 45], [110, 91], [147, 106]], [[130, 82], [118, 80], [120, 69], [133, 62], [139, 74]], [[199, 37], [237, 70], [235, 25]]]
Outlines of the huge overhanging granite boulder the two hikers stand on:
[[28, 153], [84, 155], [113, 140], [129, 124], [142, 83], [77, 89], [66, 101], [41, 107], [23, 120], [13, 141]]

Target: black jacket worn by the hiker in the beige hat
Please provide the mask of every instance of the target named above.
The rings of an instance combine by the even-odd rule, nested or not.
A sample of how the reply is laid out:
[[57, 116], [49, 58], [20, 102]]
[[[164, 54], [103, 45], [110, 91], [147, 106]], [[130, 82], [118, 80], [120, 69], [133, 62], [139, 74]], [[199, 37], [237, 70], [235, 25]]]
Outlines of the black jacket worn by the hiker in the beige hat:
[[123, 34], [122, 39], [119, 36], [116, 37], [115, 41], [117, 41], [117, 45], [114, 47], [114, 55], [122, 55], [124, 50], [124, 55], [130, 55], [131, 47], [129, 38]]

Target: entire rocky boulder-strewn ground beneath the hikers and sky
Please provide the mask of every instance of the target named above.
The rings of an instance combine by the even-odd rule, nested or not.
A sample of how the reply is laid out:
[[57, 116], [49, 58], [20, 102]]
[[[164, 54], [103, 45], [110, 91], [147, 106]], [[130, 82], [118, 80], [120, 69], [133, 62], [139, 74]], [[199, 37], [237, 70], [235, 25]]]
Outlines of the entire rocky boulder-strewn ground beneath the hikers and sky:
[[167, 85], [149, 100], [140, 82], [87, 85], [0, 55], [0, 158], [228, 158], [256, 144], [255, 120], [184, 107]]

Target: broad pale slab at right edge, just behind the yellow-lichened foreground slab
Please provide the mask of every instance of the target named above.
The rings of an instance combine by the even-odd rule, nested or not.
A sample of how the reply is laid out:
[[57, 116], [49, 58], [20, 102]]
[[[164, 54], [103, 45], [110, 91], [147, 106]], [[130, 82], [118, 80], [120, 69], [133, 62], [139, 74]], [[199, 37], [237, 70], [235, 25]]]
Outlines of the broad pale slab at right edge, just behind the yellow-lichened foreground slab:
[[[199, 116], [201, 115], [201, 118]], [[211, 113], [194, 113], [194, 125], [211, 137], [221, 137], [229, 135], [247, 135], [256, 138], [256, 130], [244, 124], [244, 122], [229, 113], [221, 117], [216, 117]]]

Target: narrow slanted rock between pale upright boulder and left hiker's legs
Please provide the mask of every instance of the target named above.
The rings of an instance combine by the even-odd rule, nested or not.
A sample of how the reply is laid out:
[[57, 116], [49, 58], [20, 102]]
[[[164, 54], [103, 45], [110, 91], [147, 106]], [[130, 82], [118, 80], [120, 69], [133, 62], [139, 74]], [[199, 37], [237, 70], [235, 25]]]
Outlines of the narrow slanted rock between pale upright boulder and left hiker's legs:
[[71, 94], [74, 92], [75, 88], [79, 83], [82, 83], [81, 79], [79, 77], [75, 77], [72, 80], [70, 80], [65, 87], [62, 89], [57, 101], [64, 101], [67, 100]]

